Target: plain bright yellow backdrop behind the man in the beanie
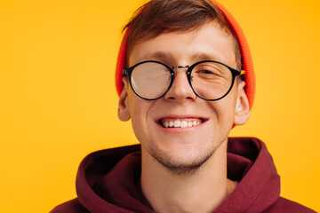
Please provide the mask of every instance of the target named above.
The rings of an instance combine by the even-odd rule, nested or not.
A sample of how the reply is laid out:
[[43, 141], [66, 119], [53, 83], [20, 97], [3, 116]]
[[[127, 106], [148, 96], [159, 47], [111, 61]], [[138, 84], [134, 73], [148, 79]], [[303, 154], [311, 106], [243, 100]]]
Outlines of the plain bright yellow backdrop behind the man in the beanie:
[[[143, 1], [0, 0], [0, 212], [76, 197], [92, 151], [137, 143], [116, 117], [120, 28]], [[232, 136], [261, 138], [282, 195], [320, 211], [320, 2], [220, 0], [244, 29], [257, 92]]]

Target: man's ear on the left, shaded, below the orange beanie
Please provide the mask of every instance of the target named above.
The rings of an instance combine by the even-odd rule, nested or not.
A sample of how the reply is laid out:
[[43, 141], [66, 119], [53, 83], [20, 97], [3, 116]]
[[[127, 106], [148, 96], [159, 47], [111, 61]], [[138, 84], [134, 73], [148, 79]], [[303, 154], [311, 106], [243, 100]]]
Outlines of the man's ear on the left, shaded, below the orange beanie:
[[121, 92], [119, 98], [119, 106], [118, 106], [118, 118], [123, 121], [129, 121], [131, 118], [130, 115], [130, 107], [129, 107], [129, 98], [128, 98], [128, 81], [126, 77], [123, 77], [124, 89]]

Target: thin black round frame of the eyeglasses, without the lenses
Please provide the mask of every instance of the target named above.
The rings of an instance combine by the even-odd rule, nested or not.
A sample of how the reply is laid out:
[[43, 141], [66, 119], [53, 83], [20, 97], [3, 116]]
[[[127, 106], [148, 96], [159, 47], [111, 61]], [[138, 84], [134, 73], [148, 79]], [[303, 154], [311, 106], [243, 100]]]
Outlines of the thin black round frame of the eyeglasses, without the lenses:
[[[135, 67], [138, 67], [140, 64], [144, 64], [144, 63], [148, 63], [148, 62], [153, 62], [153, 63], [157, 63], [157, 64], [161, 64], [163, 65], [164, 67], [166, 67], [169, 71], [170, 71], [170, 74], [171, 74], [171, 82], [168, 86], [168, 89], [164, 92], [163, 95], [159, 96], [158, 98], [155, 98], [155, 99], [147, 99], [147, 98], [144, 98], [142, 96], [140, 96], [140, 94], [134, 90], [133, 86], [132, 86], [132, 71]], [[192, 76], [191, 76], [191, 73], [192, 73], [192, 70], [194, 67], [196, 67], [198, 64], [201, 64], [201, 63], [205, 63], [205, 62], [214, 62], [214, 63], [218, 63], [220, 65], [223, 65], [225, 67], [228, 68], [228, 70], [230, 70], [231, 74], [232, 74], [232, 82], [231, 82], [231, 85], [230, 85], [230, 88], [228, 89], [228, 91], [226, 92], [226, 94], [224, 94], [223, 96], [221, 96], [219, 99], [223, 99], [225, 98], [228, 93], [231, 91], [234, 83], [235, 83], [235, 79], [236, 79], [236, 76], [237, 75], [244, 75], [245, 71], [244, 70], [238, 70], [238, 69], [235, 69], [233, 67], [229, 67], [228, 65], [224, 64], [224, 63], [221, 63], [219, 61], [216, 61], [216, 60], [201, 60], [201, 61], [198, 61], [196, 62], [195, 64], [191, 65], [191, 66], [175, 66], [175, 67], [170, 67], [169, 65], [167, 64], [164, 64], [163, 62], [161, 61], [157, 61], [157, 60], [144, 60], [144, 61], [141, 61], [135, 65], [133, 65], [132, 67], [128, 67], [128, 68], [125, 68], [124, 69], [124, 76], [128, 76], [129, 78], [129, 83], [130, 83], [130, 86], [132, 88], [132, 91], [140, 98], [140, 99], [145, 99], [145, 100], [156, 100], [156, 99], [160, 99], [162, 97], [164, 97], [164, 95], [170, 91], [170, 88], [172, 87], [172, 83], [174, 81], [174, 69], [175, 68], [188, 68], [187, 69], [187, 78], [188, 78], [188, 83], [192, 89], [192, 91], [196, 94], [197, 97], [199, 97], [200, 99], [204, 99], [204, 100], [209, 100], [209, 101], [215, 101], [215, 100], [219, 100], [219, 99], [205, 99], [204, 97], [200, 96], [199, 94], [196, 93], [195, 89], [193, 88], [192, 86]]]

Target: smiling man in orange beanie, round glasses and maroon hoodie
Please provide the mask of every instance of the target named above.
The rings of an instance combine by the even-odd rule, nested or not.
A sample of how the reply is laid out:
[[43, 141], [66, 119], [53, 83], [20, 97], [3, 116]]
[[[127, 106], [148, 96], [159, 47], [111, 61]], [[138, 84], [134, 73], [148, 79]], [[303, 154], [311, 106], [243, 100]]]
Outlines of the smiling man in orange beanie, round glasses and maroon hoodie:
[[78, 198], [52, 212], [314, 212], [279, 197], [257, 138], [228, 138], [252, 107], [250, 52], [236, 20], [209, 0], [153, 0], [125, 27], [118, 117], [140, 146], [88, 155]]

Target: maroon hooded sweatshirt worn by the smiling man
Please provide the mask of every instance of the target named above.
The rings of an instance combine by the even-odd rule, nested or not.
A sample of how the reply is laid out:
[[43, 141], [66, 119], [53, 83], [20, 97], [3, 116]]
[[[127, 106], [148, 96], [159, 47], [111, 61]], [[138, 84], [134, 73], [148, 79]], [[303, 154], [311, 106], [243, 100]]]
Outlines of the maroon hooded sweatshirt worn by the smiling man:
[[[257, 138], [228, 139], [228, 178], [238, 185], [213, 213], [315, 212], [279, 196], [280, 177], [267, 147]], [[139, 180], [139, 145], [89, 154], [77, 172], [78, 197], [51, 212], [153, 212], [143, 198]]]

